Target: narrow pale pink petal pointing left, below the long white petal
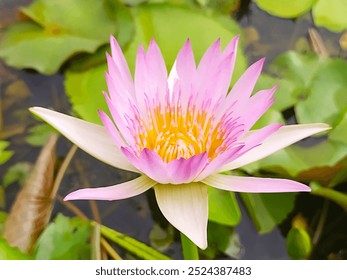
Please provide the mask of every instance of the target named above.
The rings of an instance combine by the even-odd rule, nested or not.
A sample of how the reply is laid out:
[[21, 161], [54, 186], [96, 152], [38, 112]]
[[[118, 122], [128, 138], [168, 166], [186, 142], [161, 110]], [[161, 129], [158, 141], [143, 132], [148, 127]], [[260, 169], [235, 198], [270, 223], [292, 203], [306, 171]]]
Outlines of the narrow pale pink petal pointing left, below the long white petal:
[[140, 176], [134, 180], [115, 186], [102, 188], [85, 188], [68, 194], [64, 200], [119, 200], [139, 195], [157, 183], [146, 176]]

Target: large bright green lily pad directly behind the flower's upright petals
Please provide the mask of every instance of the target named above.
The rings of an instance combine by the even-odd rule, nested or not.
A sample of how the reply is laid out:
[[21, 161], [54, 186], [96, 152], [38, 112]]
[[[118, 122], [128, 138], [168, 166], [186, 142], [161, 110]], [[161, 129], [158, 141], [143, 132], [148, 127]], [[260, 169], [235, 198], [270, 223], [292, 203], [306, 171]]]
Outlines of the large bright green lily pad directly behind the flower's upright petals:
[[[132, 9], [136, 34], [125, 50], [131, 71], [135, 69], [135, 59], [139, 44], [146, 45], [155, 38], [161, 48], [168, 69], [171, 68], [179, 49], [190, 38], [196, 60], [218, 37], [226, 45], [240, 33], [237, 23], [224, 17], [207, 16], [201, 11], [174, 5], [143, 5]], [[168, 20], [169, 19], [169, 20]], [[209, 32], [201, 32], [209, 30]], [[106, 59], [105, 59], [106, 60]], [[246, 68], [246, 58], [242, 49], [238, 51], [237, 65], [233, 79], [238, 78]], [[83, 119], [101, 123], [97, 110], [107, 110], [102, 90], [106, 90], [104, 72], [106, 64], [84, 72], [66, 72], [65, 89], [74, 111]]]

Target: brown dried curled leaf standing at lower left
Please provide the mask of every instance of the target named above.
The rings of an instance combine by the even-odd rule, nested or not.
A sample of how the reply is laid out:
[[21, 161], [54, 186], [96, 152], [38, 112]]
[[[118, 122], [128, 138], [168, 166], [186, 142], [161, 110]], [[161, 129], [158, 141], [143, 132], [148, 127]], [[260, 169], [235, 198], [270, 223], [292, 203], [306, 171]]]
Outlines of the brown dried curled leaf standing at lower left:
[[52, 135], [43, 147], [5, 224], [3, 236], [11, 246], [17, 246], [23, 252], [32, 253], [33, 245], [51, 215], [56, 192], [53, 182], [57, 139], [57, 135]]

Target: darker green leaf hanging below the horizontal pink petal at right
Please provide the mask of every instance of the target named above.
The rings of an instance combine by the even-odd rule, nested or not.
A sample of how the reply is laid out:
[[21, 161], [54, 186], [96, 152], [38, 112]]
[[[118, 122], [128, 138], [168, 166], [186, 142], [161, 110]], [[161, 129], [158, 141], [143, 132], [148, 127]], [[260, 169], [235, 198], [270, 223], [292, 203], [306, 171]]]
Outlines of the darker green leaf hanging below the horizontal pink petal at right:
[[293, 210], [296, 193], [240, 195], [257, 231], [268, 233]]

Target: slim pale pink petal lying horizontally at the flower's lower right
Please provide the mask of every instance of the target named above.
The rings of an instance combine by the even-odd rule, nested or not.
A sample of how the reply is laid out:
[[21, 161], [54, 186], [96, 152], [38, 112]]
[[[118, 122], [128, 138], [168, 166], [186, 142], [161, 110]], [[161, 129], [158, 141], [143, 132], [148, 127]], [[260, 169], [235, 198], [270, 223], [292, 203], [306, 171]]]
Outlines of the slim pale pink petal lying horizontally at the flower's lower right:
[[203, 181], [217, 189], [246, 193], [309, 192], [301, 183], [287, 179], [258, 178], [213, 174]]

